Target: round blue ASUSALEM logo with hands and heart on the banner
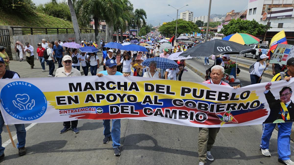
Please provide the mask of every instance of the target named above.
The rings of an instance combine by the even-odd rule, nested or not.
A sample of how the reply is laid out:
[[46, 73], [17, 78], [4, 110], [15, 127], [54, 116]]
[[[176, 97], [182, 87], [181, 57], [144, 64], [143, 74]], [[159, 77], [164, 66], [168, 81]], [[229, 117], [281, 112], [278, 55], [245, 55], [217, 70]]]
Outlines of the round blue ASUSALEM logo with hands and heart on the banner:
[[44, 115], [47, 101], [43, 92], [31, 83], [14, 81], [5, 85], [0, 93], [4, 110], [19, 120], [36, 120]]

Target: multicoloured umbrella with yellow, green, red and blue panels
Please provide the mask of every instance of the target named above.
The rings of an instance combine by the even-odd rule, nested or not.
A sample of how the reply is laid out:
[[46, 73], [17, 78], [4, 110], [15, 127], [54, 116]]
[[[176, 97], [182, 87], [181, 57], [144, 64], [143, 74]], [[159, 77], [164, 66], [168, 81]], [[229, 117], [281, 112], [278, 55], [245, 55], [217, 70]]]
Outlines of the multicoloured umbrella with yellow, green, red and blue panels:
[[223, 40], [226, 41], [233, 41], [236, 43], [240, 43], [242, 45], [244, 44], [253, 44], [253, 43], [259, 43], [259, 39], [247, 34], [247, 33], [235, 33], [235, 34], [231, 34], [226, 36], [225, 38], [223, 38]]

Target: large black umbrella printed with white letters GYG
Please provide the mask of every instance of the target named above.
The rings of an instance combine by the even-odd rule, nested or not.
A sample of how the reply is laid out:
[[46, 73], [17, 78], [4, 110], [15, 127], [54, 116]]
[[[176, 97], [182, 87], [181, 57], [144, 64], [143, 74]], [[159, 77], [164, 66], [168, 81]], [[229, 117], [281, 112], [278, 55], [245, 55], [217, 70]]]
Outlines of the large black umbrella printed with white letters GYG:
[[256, 50], [250, 49], [247, 46], [241, 45], [240, 43], [214, 39], [189, 48], [179, 56], [187, 57], [188, 55], [190, 55], [191, 57], [210, 57], [211, 55], [243, 54], [253, 51]]

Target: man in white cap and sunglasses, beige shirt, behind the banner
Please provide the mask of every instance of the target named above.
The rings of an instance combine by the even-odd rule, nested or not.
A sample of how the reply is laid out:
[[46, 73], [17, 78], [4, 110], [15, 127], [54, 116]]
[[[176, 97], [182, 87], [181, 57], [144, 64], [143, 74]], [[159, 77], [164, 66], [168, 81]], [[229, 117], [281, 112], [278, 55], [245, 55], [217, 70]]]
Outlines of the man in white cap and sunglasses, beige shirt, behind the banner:
[[[62, 58], [62, 64], [64, 67], [58, 68], [55, 72], [55, 77], [73, 77], [73, 76], [81, 76], [81, 72], [76, 68], [71, 67], [72, 59], [71, 56], [65, 55]], [[65, 133], [70, 128], [74, 131], [75, 134], [79, 133], [78, 130], [78, 120], [63, 122], [64, 128], [60, 131], [61, 134]]]

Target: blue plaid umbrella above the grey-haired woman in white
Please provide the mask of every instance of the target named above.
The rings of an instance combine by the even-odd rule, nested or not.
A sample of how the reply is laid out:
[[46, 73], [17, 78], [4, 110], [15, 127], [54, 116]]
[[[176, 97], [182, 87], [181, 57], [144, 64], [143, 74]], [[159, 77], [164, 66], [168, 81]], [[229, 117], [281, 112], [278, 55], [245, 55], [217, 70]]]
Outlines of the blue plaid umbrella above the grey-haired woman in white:
[[149, 66], [149, 63], [151, 61], [155, 61], [157, 63], [157, 68], [160, 69], [171, 69], [179, 67], [179, 65], [175, 61], [163, 57], [148, 58], [143, 61], [142, 65]]

